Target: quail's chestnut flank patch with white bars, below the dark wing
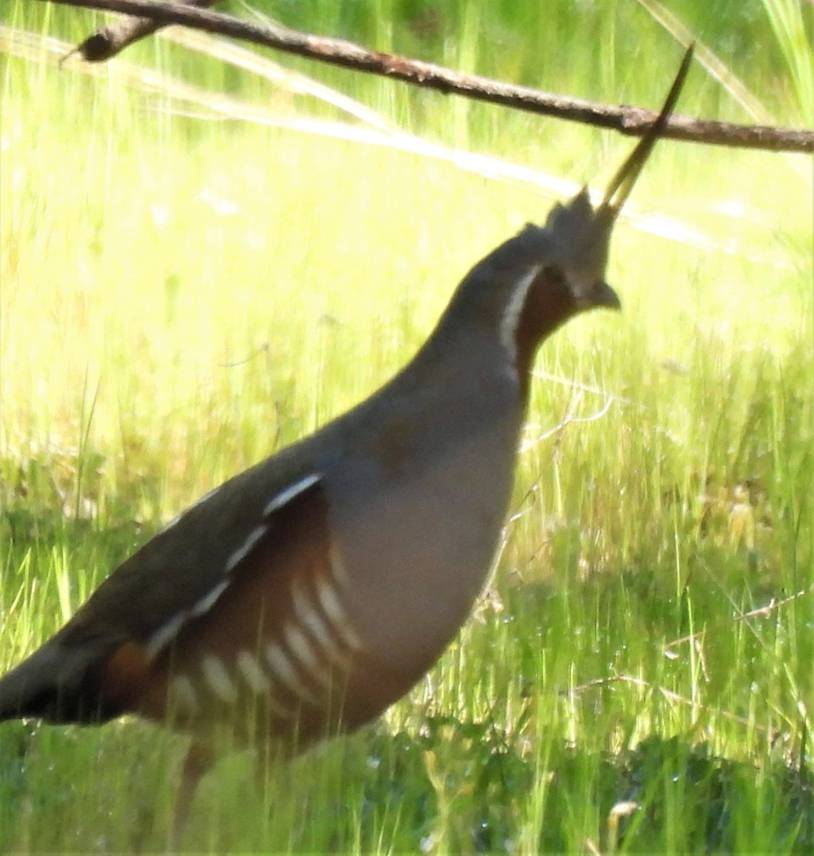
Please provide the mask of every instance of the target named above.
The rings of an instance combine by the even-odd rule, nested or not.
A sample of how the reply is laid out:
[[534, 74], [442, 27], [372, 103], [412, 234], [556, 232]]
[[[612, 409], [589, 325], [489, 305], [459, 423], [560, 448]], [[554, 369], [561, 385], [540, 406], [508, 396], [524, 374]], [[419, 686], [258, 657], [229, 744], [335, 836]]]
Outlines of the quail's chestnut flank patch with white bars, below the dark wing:
[[[194, 603], [166, 615], [149, 639], [126, 640], [101, 683], [122, 710], [208, 727], [258, 704], [267, 718], [319, 722], [363, 644], [343, 603], [344, 571], [317, 474], [272, 497], [224, 574]], [[307, 717], [306, 717], [307, 718]]]

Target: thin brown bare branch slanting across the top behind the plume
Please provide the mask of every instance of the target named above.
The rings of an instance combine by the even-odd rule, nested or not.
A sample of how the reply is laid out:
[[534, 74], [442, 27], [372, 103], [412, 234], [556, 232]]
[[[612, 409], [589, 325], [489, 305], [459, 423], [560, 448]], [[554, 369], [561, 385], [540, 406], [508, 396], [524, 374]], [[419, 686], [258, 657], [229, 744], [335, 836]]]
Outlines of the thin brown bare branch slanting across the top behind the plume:
[[[306, 56], [342, 68], [402, 80], [414, 86], [425, 86], [444, 94], [455, 93], [490, 104], [501, 104], [516, 110], [545, 116], [557, 116], [600, 128], [611, 128], [632, 136], [641, 136], [656, 119], [656, 113], [640, 107], [615, 107], [596, 104], [581, 98], [564, 98], [539, 92], [528, 86], [512, 86], [477, 74], [462, 74], [431, 62], [419, 62], [404, 56], [368, 51], [344, 39], [330, 39], [298, 33], [282, 27], [241, 21], [209, 9], [194, 8], [189, 3], [205, 5], [210, 0], [187, 0], [187, 3], [148, 3], [145, 0], [54, 0], [68, 6], [103, 9], [139, 16], [140, 21], [122, 27], [125, 36], [117, 39], [119, 25], [105, 27], [86, 39], [76, 50], [87, 60], [114, 56], [136, 39], [167, 24], [219, 33], [255, 45]], [[214, 0], [211, 0], [214, 2]], [[144, 20], [146, 19], [146, 20]], [[105, 33], [107, 33], [105, 35]], [[129, 34], [128, 34], [129, 33]], [[689, 140], [717, 146], [763, 149], [768, 151], [814, 152], [814, 132], [796, 128], [771, 128], [762, 125], [740, 125], [712, 122], [689, 116], [671, 116], [663, 137]]]

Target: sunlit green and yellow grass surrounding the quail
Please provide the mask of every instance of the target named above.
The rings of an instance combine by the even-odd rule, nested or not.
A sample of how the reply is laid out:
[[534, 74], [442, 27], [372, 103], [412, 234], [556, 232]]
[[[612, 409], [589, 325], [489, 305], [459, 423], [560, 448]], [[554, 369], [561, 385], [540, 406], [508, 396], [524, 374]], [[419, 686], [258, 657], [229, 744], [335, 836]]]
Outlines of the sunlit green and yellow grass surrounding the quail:
[[[545, 80], [525, 82], [658, 104], [680, 50], [642, 5], [608, 5], [559, 41], [535, 19], [550, 51]], [[7, 22], [85, 34], [22, 9]], [[517, 74], [494, 68], [478, 32], [517, 39], [509, 25], [531, 18], [467, 9], [431, 58], [527, 78], [528, 55], [506, 61]], [[647, 34], [635, 55], [603, 29], [620, 10]], [[768, 20], [752, 28], [775, 49], [747, 82], [774, 121], [802, 125]], [[403, 32], [379, 24], [377, 46]], [[163, 42], [122, 60], [191, 69], [283, 125], [313, 110]], [[410, 152], [173, 115], [166, 89], [112, 68], [0, 61], [6, 669], [163, 521], [375, 389], [466, 269], [550, 199]], [[319, 74], [415, 132], [597, 187], [631, 146]], [[721, 92], [697, 68], [680, 111], [746, 120]], [[539, 356], [506, 545], [474, 620], [376, 726], [259, 789], [250, 758], [224, 761], [186, 846], [814, 848], [811, 163], [662, 143], [633, 205], [708, 244], [620, 223], [609, 280], [625, 311], [569, 324]], [[137, 722], [3, 725], [0, 853], [163, 849], [182, 748]]]

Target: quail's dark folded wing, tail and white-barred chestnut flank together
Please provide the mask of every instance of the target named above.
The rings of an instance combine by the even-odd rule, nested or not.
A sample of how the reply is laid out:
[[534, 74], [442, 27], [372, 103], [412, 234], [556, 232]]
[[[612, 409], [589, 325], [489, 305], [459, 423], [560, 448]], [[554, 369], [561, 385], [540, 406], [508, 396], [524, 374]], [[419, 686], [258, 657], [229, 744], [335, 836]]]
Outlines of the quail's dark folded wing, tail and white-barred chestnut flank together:
[[[159, 533], [6, 675], [0, 716], [69, 722], [132, 710], [194, 724], [254, 697], [282, 718], [316, 706], [361, 647], [322, 479], [300, 473], [264, 502], [239, 480]], [[226, 529], [240, 537], [211, 553], [206, 544], [223, 544]]]

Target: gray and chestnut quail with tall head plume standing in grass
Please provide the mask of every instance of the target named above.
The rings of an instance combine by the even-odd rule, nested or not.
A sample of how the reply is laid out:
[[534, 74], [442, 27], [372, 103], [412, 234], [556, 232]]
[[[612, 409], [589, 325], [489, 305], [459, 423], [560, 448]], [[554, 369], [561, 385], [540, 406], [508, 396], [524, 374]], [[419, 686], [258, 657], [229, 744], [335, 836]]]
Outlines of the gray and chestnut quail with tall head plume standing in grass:
[[190, 735], [180, 830], [218, 734], [293, 756], [420, 681], [489, 577], [538, 347], [621, 308], [610, 235], [691, 57], [599, 205], [585, 186], [527, 224], [381, 389], [157, 532], [0, 678], [0, 721], [133, 714]]

